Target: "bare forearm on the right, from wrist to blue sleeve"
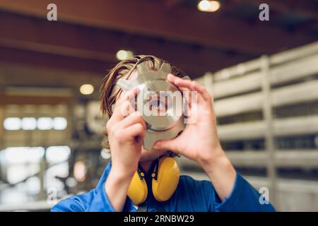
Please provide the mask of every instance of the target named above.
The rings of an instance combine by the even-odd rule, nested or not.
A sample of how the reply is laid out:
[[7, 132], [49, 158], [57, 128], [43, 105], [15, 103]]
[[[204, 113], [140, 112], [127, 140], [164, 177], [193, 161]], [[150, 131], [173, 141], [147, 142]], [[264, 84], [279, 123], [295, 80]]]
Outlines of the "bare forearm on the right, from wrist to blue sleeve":
[[218, 157], [203, 162], [201, 165], [211, 179], [216, 193], [223, 201], [226, 196], [230, 195], [233, 189], [236, 171], [224, 151], [220, 150], [220, 153]]

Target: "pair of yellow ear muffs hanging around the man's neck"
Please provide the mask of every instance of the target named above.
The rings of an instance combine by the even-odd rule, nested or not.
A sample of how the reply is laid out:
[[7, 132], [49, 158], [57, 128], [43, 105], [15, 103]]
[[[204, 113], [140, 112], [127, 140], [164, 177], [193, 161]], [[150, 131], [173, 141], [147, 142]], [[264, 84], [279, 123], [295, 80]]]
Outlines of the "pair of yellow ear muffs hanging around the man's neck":
[[[140, 169], [135, 172], [131, 179], [127, 195], [135, 204], [141, 204], [146, 201], [148, 188], [144, 179], [144, 172]], [[179, 183], [179, 167], [172, 157], [162, 157], [155, 164], [151, 174], [153, 196], [157, 201], [167, 201], [177, 189]]]

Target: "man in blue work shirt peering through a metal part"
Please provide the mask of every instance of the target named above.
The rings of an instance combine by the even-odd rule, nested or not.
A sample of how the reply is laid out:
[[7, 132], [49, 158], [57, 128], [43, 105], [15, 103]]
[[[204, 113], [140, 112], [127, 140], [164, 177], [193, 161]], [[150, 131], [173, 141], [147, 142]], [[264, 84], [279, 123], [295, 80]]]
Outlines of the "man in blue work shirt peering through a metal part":
[[[117, 85], [119, 78], [136, 79], [136, 66], [141, 63], [146, 63], [150, 70], [158, 71], [163, 60], [153, 56], [131, 57], [119, 62], [104, 78], [101, 109], [110, 119], [102, 145], [110, 148], [112, 162], [100, 182], [86, 194], [60, 201], [52, 211], [273, 211], [271, 204], [259, 201], [261, 195], [235, 171], [226, 157], [218, 139], [212, 97], [195, 81], [183, 80], [186, 74], [175, 66], [171, 67], [167, 81], [181, 91], [197, 92], [197, 102], [191, 102], [189, 117], [192, 117], [194, 107], [198, 117], [194, 123], [187, 124], [177, 138], [157, 141], [153, 150], [144, 150], [142, 143], [146, 123], [141, 114], [131, 112], [126, 116], [121, 110], [130, 106], [137, 90], [122, 93]], [[152, 184], [153, 163], [167, 155], [183, 155], [194, 160], [204, 169], [211, 182], [181, 176], [172, 194], [158, 201]], [[134, 178], [137, 169], [140, 180], [138, 176]], [[131, 196], [127, 196], [135, 179], [136, 183], [144, 180], [145, 189], [148, 190], [145, 200], [137, 204], [129, 198]], [[139, 190], [133, 193], [139, 193]]]

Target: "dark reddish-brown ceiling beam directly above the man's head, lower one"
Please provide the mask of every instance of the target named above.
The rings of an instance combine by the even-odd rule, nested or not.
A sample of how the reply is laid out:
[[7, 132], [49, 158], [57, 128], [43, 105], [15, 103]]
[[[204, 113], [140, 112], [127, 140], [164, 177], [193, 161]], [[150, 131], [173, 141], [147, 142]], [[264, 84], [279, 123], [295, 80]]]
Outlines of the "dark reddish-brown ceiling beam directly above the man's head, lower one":
[[[7, 48], [6, 51], [8, 48], [13, 49], [11, 55], [20, 49], [22, 52], [30, 51], [32, 54], [37, 52], [45, 55], [47, 60], [49, 54], [52, 54], [56, 62], [59, 61], [59, 55], [63, 59], [69, 59], [70, 64], [73, 64], [72, 58], [78, 62], [92, 61], [98, 64], [96, 69], [91, 69], [93, 72], [102, 72], [102, 62], [105, 62], [102, 64], [105, 66], [117, 64], [115, 54], [119, 49], [129, 49], [134, 54], [153, 54], [179, 66], [194, 77], [252, 58], [247, 54], [228, 54], [218, 49], [87, 28], [82, 25], [48, 23], [46, 20], [12, 13], [0, 13], [0, 20], [0, 46]], [[42, 58], [39, 60], [43, 62]], [[66, 66], [67, 61], [61, 63]], [[85, 65], [81, 64], [78, 69]]]

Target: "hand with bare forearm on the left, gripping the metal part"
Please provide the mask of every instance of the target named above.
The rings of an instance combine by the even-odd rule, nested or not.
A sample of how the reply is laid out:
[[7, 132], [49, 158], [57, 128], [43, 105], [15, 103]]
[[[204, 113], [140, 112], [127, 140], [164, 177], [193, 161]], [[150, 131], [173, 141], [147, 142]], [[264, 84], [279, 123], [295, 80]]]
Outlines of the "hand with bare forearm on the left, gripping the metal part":
[[108, 141], [112, 155], [112, 169], [105, 182], [105, 191], [112, 206], [122, 211], [126, 194], [138, 168], [146, 123], [131, 107], [137, 90], [127, 92], [117, 100], [112, 117], [107, 121]]

